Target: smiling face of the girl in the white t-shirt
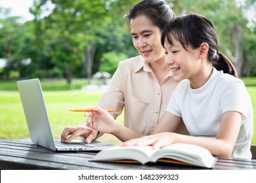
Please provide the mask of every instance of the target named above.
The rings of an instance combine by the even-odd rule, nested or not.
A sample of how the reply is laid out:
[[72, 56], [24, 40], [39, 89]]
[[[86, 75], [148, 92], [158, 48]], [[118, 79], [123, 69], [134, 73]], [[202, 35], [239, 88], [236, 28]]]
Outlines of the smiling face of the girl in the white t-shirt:
[[200, 48], [193, 49], [191, 46], [185, 50], [181, 42], [177, 41], [172, 34], [173, 45], [165, 42], [165, 61], [173, 73], [174, 80], [180, 82], [188, 79], [190, 82], [198, 79], [202, 61], [200, 59]]

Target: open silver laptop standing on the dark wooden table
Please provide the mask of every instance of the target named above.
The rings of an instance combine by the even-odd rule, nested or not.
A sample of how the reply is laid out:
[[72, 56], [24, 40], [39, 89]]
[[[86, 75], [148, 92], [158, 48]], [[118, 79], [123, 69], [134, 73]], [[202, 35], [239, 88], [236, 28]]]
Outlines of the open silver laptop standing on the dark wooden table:
[[20, 80], [17, 85], [33, 143], [54, 151], [100, 151], [114, 146], [99, 141], [85, 144], [74, 140], [66, 144], [54, 140], [39, 79]]

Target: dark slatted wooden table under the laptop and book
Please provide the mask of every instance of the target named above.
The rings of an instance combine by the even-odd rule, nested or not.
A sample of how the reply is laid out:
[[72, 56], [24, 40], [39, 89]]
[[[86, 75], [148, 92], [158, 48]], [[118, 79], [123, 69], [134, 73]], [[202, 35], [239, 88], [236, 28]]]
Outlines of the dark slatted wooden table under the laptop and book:
[[[156, 164], [99, 163], [90, 161], [96, 152], [54, 152], [36, 146], [30, 139], [0, 140], [0, 169], [69, 170], [190, 170], [198, 167]], [[256, 169], [256, 160], [219, 158], [214, 170]]]

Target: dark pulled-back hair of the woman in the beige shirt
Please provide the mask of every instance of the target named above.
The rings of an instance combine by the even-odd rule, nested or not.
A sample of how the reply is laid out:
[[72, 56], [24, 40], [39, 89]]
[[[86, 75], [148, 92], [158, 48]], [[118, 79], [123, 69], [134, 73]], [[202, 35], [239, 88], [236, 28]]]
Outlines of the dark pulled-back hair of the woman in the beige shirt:
[[131, 20], [140, 15], [149, 18], [160, 30], [163, 30], [169, 20], [175, 18], [175, 13], [166, 1], [142, 0], [125, 15], [128, 27], [131, 25]]

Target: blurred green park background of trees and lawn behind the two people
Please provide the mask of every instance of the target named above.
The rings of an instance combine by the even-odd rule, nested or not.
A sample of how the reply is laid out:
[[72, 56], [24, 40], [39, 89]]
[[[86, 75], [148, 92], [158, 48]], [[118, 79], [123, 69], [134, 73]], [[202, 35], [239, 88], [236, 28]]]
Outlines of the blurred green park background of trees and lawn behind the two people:
[[[83, 124], [82, 113], [68, 110], [96, 105], [118, 62], [138, 55], [123, 18], [137, 2], [37, 0], [30, 8], [34, 19], [26, 22], [0, 7], [0, 139], [30, 138], [16, 86], [25, 78], [41, 80], [54, 138], [64, 127]], [[220, 50], [238, 68], [255, 116], [255, 0], [167, 2], [177, 16], [196, 12], [213, 21]], [[117, 120], [123, 123], [123, 115]], [[119, 143], [112, 135], [100, 138]]]

